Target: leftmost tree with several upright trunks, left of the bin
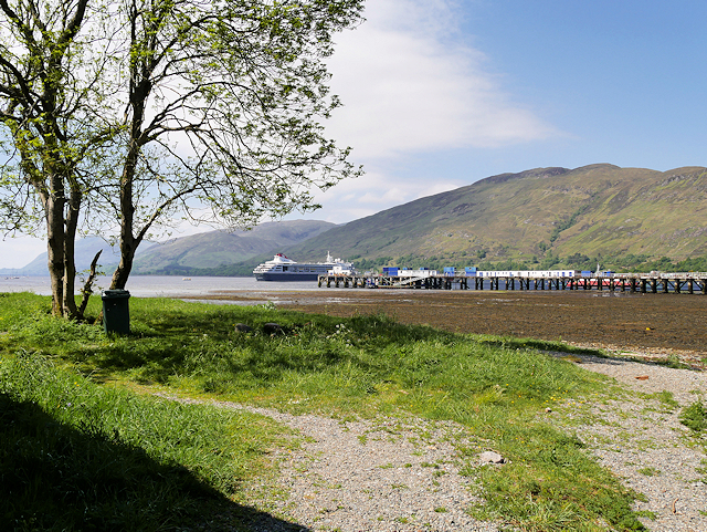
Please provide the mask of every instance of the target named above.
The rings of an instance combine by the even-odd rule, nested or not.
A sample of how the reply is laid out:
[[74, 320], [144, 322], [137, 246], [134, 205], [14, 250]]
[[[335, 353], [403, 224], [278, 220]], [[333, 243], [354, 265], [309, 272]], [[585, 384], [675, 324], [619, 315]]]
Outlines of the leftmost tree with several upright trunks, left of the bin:
[[114, 129], [96, 97], [105, 63], [77, 39], [88, 0], [57, 8], [0, 0], [0, 208], [6, 230], [44, 226], [53, 311], [75, 316], [74, 239]]

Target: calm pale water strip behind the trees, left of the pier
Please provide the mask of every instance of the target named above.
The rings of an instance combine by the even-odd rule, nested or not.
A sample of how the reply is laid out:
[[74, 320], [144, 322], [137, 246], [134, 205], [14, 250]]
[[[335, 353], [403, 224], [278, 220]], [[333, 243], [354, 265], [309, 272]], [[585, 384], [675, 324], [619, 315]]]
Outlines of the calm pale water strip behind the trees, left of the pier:
[[[186, 280], [190, 279], [190, 280]], [[109, 277], [99, 277], [94, 288], [107, 289]], [[78, 284], [76, 286], [78, 289]], [[255, 278], [180, 278], [175, 275], [133, 275], [126, 285], [130, 295], [137, 298], [159, 298], [179, 295], [208, 295], [229, 290], [326, 290], [319, 289], [316, 281], [256, 281]], [[78, 290], [77, 290], [78, 291]], [[0, 277], [0, 292], [34, 292], [51, 295], [48, 277]]]

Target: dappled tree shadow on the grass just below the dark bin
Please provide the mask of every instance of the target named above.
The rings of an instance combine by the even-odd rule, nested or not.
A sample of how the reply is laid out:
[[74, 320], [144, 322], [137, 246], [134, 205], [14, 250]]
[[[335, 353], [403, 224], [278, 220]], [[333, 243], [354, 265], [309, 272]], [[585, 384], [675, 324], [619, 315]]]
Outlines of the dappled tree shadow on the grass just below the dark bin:
[[[193, 316], [182, 310], [167, 311], [159, 320], [145, 320], [148, 334], [133, 334], [95, 351], [76, 351], [70, 355], [74, 362], [89, 362], [98, 369], [93, 379], [101, 382], [113, 372], [141, 368], [146, 382], [167, 383], [169, 377], [181, 374], [187, 367], [198, 365], [203, 353], [208, 364], [221, 361], [220, 372], [239, 375], [249, 372], [256, 382], [277, 380], [283, 374], [323, 372], [355, 362], [362, 372], [374, 371], [370, 363], [341, 350], [328, 340], [340, 333], [341, 319], [324, 315], [303, 315], [295, 311], [278, 312], [277, 315], [252, 313], [247, 324], [252, 332], [234, 332], [234, 316], [215, 309]], [[264, 324], [276, 321], [282, 333], [267, 334]], [[409, 345], [429, 338], [449, 340], [452, 334], [429, 327], [401, 325], [387, 316], [356, 316], [346, 323], [348, 334], [355, 338], [370, 337], [365, 345], [358, 344], [368, 355], [389, 345]], [[307, 338], [316, 347], [293, 354], [291, 346], [281, 345], [294, 337]], [[230, 350], [241, 350], [244, 355], [229, 357]], [[355, 361], [351, 357], [356, 358]], [[225, 369], [228, 367], [228, 369]]]

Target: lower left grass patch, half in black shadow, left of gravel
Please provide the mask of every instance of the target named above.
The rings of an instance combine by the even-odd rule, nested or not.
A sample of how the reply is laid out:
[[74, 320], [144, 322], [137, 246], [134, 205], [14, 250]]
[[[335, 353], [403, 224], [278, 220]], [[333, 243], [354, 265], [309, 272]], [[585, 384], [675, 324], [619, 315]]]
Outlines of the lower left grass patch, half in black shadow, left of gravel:
[[[0, 358], [0, 521], [9, 530], [187, 530], [257, 520], [268, 418], [99, 386], [44, 356]], [[215, 521], [214, 521], [215, 517]], [[246, 529], [243, 529], [246, 530]]]

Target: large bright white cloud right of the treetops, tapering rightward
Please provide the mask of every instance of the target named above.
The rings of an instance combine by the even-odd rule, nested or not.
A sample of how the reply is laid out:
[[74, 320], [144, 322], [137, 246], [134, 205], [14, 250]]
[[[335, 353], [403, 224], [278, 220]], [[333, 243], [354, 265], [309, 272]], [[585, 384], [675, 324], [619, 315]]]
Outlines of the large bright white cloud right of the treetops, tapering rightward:
[[498, 147], [553, 133], [485, 70], [450, 1], [374, 0], [365, 14], [338, 36], [329, 62], [345, 107], [327, 128], [355, 156]]

